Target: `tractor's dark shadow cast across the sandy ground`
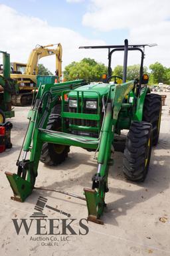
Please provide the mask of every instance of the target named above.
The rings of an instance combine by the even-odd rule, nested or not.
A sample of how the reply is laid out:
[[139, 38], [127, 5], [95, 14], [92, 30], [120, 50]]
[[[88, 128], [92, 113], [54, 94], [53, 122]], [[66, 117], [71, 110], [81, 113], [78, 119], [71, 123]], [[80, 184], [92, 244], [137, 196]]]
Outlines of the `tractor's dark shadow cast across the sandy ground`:
[[[159, 150], [167, 150], [167, 155], [159, 153]], [[170, 165], [170, 158], [168, 156], [168, 152], [170, 151], [170, 145], [169, 145], [169, 134], [161, 134], [161, 139], [159, 141], [159, 144], [157, 147], [154, 147], [152, 150], [152, 156], [151, 156], [151, 164], [149, 168], [149, 172], [147, 175], [147, 178], [145, 179], [145, 182], [135, 184], [137, 186], [137, 189], [135, 188], [135, 191], [131, 190], [131, 184], [132, 182], [127, 182], [127, 185], [125, 188], [118, 188], [116, 186], [110, 186], [110, 191], [108, 192], [110, 195], [112, 194], [113, 200], [107, 204], [106, 210], [104, 215], [102, 216], [102, 219], [104, 220], [104, 223], [109, 223], [111, 225], [118, 225], [118, 217], [120, 215], [126, 215], [128, 213], [128, 210], [133, 208], [138, 203], [142, 203], [143, 201], [147, 201], [151, 197], [154, 197], [158, 193], [163, 193], [167, 188], [169, 188], [170, 183], [170, 176], [169, 176], [169, 165]], [[92, 152], [93, 154], [93, 152]], [[157, 156], [159, 154], [159, 156]], [[122, 180], [126, 182], [126, 179], [122, 175], [122, 156], [123, 154], [120, 152], [116, 152], [114, 158], [115, 158], [115, 166], [110, 168], [110, 175], [109, 180], [114, 180], [112, 184], [116, 184], [116, 180]], [[92, 166], [89, 172], [84, 172], [84, 170], [81, 170], [81, 164], [84, 164], [86, 166]], [[74, 178], [73, 180], [70, 179], [70, 176], [68, 179], [57, 182], [57, 172], [62, 171], [68, 171], [72, 169], [72, 172], [74, 173], [74, 168], [78, 168], [80, 166], [80, 172], [78, 172], [78, 176]], [[56, 189], [56, 190], [64, 190], [72, 192], [72, 188], [74, 186], [81, 186], [82, 190], [84, 187], [91, 188], [92, 176], [96, 173], [96, 164], [95, 160], [92, 160], [90, 158], [90, 154], [86, 154], [86, 151], [84, 153], [75, 153], [72, 152], [70, 154], [70, 157], [66, 160], [66, 162], [60, 164], [59, 166], [51, 166], [48, 168], [50, 170], [56, 170], [56, 180], [48, 186], [49, 189]], [[46, 169], [45, 172], [50, 172], [50, 170]], [[76, 169], [77, 171], [77, 169]], [[43, 170], [44, 172], [44, 170]], [[41, 171], [39, 171], [39, 175], [41, 175]], [[49, 174], [50, 175], [50, 174]], [[129, 189], [128, 189], [129, 188]], [[81, 191], [82, 192], [82, 191]], [[82, 193], [80, 192], [80, 195]], [[116, 194], [121, 195], [119, 199], [114, 199], [116, 197]], [[35, 204], [37, 202], [37, 198], [39, 195], [42, 195], [41, 191], [34, 191], [31, 196], [27, 198], [27, 202], [31, 204]], [[84, 205], [86, 207], [86, 203], [84, 201], [78, 201], [78, 199], [75, 199], [74, 201], [70, 201], [69, 199], [66, 199], [66, 197], [61, 197], [60, 194], [53, 192], [43, 192], [44, 197], [53, 197], [57, 200], [62, 200], [64, 202], [74, 203], [75, 205]], [[107, 195], [106, 195], [106, 202], [107, 202]], [[141, 209], [143, 210], [143, 209]]]

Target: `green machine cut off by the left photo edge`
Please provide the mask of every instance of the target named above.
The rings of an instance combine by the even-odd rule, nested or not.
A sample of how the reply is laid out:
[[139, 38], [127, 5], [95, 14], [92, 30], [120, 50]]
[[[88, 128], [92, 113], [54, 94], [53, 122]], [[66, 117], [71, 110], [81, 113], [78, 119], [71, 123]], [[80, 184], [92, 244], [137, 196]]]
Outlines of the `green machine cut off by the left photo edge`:
[[[11, 96], [19, 93], [15, 80], [10, 78], [10, 55], [0, 51], [3, 55], [3, 68], [0, 69], [0, 123], [5, 123], [5, 118], [15, 115], [11, 108]], [[1, 65], [2, 66], [2, 65]]]

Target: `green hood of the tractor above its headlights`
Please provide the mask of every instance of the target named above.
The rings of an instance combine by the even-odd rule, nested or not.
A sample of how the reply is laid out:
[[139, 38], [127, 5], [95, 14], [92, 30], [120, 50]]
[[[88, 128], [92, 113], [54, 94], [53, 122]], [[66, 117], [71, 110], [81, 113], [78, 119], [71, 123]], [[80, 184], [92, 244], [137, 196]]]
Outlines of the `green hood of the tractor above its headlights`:
[[98, 96], [104, 96], [108, 94], [109, 90], [110, 90], [110, 84], [105, 84], [105, 83], [87, 84], [84, 86], [80, 86], [75, 90], [72, 90], [72, 92], [69, 92], [68, 97], [76, 98], [78, 95], [78, 92], [79, 92], [79, 96], [82, 96], [82, 92], [83, 92], [83, 96], [85, 98], [98, 98]]

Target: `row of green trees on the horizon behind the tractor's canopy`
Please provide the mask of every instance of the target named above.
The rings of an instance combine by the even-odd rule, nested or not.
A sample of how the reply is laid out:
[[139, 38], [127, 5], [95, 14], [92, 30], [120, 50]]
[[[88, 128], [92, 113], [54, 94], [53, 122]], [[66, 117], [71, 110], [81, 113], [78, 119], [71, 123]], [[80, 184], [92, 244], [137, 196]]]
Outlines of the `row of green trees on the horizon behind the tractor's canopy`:
[[[139, 78], [139, 64], [128, 66], [127, 80]], [[170, 68], [163, 66], [161, 63], [150, 64], [149, 68], [143, 66], [143, 72], [149, 75], [149, 84], [170, 84]], [[107, 73], [107, 67], [102, 63], [97, 63], [94, 59], [84, 58], [79, 62], [72, 62], [65, 66], [64, 80], [85, 79], [89, 82], [98, 82], [101, 75]], [[112, 70], [112, 75], [123, 76], [123, 66], [118, 65]]]

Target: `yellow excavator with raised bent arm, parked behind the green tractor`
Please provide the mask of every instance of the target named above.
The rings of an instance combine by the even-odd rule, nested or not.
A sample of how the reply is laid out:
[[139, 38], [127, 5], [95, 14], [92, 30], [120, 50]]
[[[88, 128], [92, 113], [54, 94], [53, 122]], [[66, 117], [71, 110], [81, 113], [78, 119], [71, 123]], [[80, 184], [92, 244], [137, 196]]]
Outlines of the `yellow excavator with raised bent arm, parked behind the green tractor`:
[[54, 47], [54, 45], [37, 45], [31, 52], [27, 64], [11, 63], [11, 78], [17, 80], [19, 86], [19, 95], [12, 96], [13, 106], [26, 106], [31, 104], [33, 91], [37, 86], [39, 59], [56, 55], [55, 76], [58, 81], [60, 80], [60, 76], [62, 76], [62, 46], [58, 43], [55, 49], [49, 47]]

